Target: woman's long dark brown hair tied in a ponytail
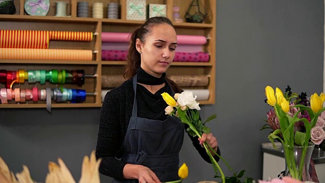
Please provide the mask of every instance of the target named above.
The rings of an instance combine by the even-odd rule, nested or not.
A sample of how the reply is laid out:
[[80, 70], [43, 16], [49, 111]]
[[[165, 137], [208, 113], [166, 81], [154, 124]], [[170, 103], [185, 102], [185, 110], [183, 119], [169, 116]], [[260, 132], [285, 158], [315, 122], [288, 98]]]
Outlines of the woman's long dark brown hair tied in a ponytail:
[[[124, 79], [129, 79], [134, 77], [141, 65], [141, 56], [136, 48], [136, 41], [140, 39], [142, 43], [145, 42], [146, 37], [151, 33], [152, 27], [160, 24], [169, 24], [174, 27], [171, 20], [167, 17], [151, 17], [149, 18], [141, 27], [137, 28], [131, 35], [129, 49], [127, 53], [127, 64], [125, 66], [125, 71], [123, 73]], [[175, 92], [180, 93], [180, 87], [172, 81], [170, 78], [166, 77], [166, 80], [172, 86]]]

